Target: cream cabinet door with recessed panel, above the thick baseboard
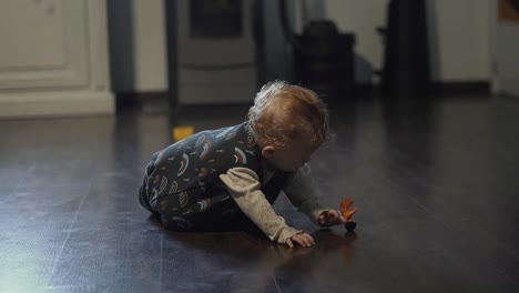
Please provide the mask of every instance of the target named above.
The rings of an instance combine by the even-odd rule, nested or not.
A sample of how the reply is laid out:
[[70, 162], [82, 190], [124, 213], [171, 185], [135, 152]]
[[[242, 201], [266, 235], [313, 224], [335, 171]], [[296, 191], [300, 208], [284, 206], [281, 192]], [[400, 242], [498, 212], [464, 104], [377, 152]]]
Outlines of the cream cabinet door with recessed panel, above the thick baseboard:
[[86, 0], [0, 1], [0, 91], [89, 83]]

